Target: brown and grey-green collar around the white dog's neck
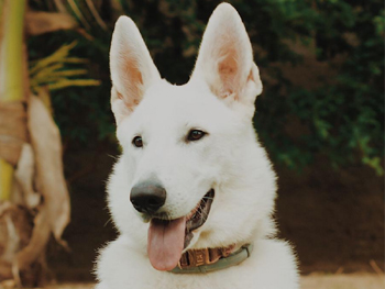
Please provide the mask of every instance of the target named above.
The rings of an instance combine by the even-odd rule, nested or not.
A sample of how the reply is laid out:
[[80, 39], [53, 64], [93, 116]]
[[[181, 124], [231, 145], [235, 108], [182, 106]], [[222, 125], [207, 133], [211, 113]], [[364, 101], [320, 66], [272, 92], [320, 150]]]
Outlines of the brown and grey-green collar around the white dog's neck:
[[228, 247], [188, 249], [170, 273], [209, 273], [238, 265], [250, 257], [253, 245]]

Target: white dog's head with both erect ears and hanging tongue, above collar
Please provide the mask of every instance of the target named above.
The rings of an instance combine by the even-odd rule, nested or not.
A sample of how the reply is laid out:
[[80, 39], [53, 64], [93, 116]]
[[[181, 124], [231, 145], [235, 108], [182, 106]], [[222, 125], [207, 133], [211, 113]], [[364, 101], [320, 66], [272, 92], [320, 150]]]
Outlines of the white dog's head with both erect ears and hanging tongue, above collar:
[[117, 22], [110, 62], [123, 154], [109, 198], [120, 231], [145, 243], [161, 270], [185, 248], [266, 234], [275, 179], [252, 125], [262, 84], [238, 12], [226, 3], [215, 10], [184, 86], [161, 78], [127, 16]]

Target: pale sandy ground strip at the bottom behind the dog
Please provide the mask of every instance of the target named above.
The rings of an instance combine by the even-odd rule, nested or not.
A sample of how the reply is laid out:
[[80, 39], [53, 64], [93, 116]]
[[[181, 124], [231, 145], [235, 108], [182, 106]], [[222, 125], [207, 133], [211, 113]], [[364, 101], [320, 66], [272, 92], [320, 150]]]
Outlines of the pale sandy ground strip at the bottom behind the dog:
[[[67, 284], [48, 289], [91, 289], [94, 285]], [[384, 275], [311, 275], [301, 277], [301, 289], [383, 289]]]

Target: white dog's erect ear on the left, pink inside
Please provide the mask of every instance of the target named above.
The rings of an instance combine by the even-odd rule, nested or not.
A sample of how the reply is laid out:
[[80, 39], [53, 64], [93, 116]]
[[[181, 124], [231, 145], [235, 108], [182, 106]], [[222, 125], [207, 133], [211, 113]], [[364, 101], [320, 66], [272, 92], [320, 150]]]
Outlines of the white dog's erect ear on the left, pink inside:
[[111, 108], [119, 124], [139, 104], [151, 84], [161, 79], [141, 33], [128, 16], [117, 21], [110, 49], [110, 69]]

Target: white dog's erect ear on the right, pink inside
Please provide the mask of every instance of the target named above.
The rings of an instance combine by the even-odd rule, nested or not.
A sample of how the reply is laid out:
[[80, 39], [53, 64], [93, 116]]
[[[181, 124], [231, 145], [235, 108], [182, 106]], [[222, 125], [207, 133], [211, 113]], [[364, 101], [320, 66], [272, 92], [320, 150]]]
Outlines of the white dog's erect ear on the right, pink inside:
[[226, 101], [253, 105], [262, 82], [253, 51], [237, 10], [222, 3], [206, 27], [191, 80], [202, 79]]

